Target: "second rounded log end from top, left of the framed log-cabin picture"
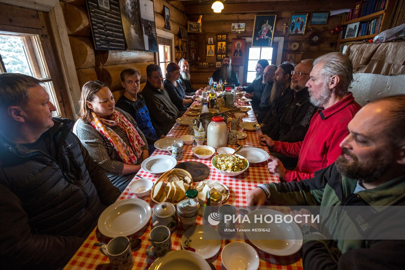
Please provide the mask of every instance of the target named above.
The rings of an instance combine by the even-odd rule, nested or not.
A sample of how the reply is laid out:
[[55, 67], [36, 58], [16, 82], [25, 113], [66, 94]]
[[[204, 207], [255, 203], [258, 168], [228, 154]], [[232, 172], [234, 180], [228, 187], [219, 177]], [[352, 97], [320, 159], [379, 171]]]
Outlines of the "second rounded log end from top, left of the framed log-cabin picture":
[[85, 69], [95, 66], [93, 45], [89, 38], [69, 36], [69, 42], [76, 69]]

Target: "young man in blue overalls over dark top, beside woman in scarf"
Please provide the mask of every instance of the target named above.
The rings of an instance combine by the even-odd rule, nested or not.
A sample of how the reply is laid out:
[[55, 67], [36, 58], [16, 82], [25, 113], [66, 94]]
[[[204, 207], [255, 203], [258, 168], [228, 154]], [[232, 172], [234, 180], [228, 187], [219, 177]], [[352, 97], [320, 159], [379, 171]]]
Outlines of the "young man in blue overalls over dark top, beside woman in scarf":
[[145, 99], [138, 93], [141, 73], [136, 69], [124, 69], [120, 77], [125, 92], [118, 99], [117, 103], [115, 103], [115, 106], [123, 109], [134, 118], [139, 129], [141, 129], [143, 135], [145, 135], [149, 146], [149, 155], [151, 155], [156, 149], [155, 146], [153, 146], [155, 141], [164, 138], [165, 135], [163, 135], [156, 123], [152, 123]]

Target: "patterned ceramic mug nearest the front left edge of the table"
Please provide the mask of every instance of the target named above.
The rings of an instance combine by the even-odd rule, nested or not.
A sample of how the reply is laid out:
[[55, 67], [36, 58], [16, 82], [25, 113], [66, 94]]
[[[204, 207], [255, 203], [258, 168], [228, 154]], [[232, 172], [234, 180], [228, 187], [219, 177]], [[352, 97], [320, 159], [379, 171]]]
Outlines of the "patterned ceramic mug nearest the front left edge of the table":
[[110, 259], [114, 270], [130, 270], [134, 266], [134, 256], [128, 237], [115, 237], [108, 244], [103, 244], [100, 251]]

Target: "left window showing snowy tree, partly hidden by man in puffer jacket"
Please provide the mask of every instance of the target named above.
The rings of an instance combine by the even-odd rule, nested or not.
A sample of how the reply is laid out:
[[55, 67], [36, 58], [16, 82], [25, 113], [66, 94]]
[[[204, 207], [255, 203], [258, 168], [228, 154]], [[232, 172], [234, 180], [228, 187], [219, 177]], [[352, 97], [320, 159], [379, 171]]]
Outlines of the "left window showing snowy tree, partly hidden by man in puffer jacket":
[[[53, 116], [60, 116], [52, 79], [44, 60], [38, 35], [0, 32], [0, 73], [22, 73], [39, 79], [57, 110]], [[4, 65], [4, 66], [3, 66]]]

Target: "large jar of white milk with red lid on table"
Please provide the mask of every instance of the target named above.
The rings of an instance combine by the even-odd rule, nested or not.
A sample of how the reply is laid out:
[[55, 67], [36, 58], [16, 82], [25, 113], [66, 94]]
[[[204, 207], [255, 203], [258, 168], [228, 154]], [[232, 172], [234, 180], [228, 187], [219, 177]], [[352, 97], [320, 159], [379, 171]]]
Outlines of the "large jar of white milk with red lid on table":
[[207, 126], [207, 146], [217, 150], [220, 147], [225, 147], [228, 144], [228, 126], [224, 122], [224, 118], [214, 116], [212, 121]]

